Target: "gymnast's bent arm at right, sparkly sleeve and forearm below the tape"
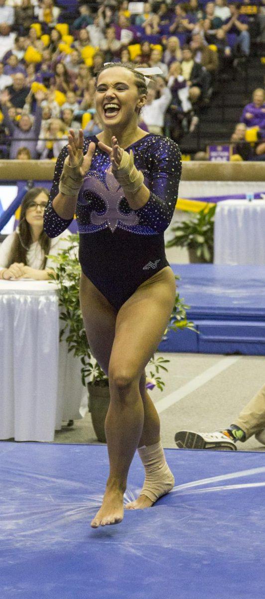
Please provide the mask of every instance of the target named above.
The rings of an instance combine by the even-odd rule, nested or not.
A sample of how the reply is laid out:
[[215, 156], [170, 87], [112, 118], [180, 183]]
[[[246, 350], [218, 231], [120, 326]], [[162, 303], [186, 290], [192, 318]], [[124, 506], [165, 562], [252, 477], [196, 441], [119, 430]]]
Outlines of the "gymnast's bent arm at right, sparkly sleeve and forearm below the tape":
[[140, 217], [139, 224], [161, 233], [169, 226], [175, 210], [181, 178], [181, 153], [174, 141], [162, 138], [150, 159], [150, 189], [143, 184], [136, 193], [126, 193], [126, 199]]

